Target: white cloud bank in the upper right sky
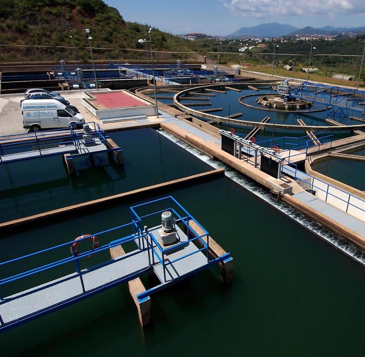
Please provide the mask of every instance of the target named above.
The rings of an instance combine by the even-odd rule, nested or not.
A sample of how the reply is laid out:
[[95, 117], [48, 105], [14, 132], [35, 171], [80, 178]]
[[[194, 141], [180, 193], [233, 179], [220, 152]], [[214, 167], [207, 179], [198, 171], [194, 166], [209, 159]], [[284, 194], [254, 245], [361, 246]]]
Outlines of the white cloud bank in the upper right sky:
[[328, 16], [364, 14], [364, 0], [222, 0], [233, 14], [243, 17]]

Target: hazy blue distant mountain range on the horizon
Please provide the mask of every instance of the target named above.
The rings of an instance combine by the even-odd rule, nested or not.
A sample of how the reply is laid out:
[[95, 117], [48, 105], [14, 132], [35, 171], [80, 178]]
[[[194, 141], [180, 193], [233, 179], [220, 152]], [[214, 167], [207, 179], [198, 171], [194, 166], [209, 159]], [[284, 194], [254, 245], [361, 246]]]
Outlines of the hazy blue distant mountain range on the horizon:
[[227, 38], [241, 38], [241, 37], [284, 37], [296, 35], [338, 35], [342, 33], [350, 33], [356, 31], [364, 31], [365, 26], [362, 27], [333, 27], [324, 26], [320, 28], [304, 27], [297, 28], [289, 24], [279, 24], [276, 22], [269, 24], [261, 24], [254, 27], [241, 27], [238, 31], [227, 35]]

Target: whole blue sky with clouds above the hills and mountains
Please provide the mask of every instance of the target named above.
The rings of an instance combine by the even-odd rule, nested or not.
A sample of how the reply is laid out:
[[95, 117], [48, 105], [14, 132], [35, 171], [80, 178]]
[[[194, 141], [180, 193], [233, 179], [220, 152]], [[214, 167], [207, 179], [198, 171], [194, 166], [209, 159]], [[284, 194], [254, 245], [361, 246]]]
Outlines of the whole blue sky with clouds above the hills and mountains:
[[124, 20], [181, 34], [227, 35], [241, 27], [288, 23], [295, 27], [365, 26], [364, 0], [104, 0]]

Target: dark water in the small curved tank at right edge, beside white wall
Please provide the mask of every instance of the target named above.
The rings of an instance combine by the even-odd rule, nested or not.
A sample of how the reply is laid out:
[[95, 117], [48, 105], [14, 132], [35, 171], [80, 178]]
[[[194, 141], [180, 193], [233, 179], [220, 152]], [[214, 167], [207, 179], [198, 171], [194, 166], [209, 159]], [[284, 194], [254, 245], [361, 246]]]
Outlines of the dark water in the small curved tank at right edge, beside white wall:
[[[365, 149], [346, 151], [346, 154], [365, 156]], [[365, 190], [365, 161], [329, 157], [316, 160], [312, 169], [361, 191]]]

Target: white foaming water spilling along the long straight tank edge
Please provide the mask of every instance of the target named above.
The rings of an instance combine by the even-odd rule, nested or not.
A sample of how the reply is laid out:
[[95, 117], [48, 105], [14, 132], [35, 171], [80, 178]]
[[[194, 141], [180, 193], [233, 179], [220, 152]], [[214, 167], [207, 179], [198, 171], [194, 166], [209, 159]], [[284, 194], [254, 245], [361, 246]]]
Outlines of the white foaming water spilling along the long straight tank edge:
[[231, 178], [233, 181], [241, 185], [243, 188], [247, 189], [249, 192], [253, 193], [255, 196], [260, 197], [262, 200], [269, 203], [271, 206], [277, 208], [284, 214], [288, 215], [296, 222], [311, 230], [313, 233], [319, 235], [321, 238], [325, 239], [329, 243], [333, 244], [342, 252], [346, 253], [354, 260], [360, 262], [365, 265], [365, 252], [359, 249], [357, 246], [347, 241], [346, 239], [340, 237], [339, 235], [331, 232], [327, 228], [323, 227], [321, 224], [315, 222], [311, 218], [302, 214], [300, 211], [295, 208], [289, 206], [287, 203], [277, 200], [268, 189], [262, 187], [261, 185], [255, 183], [255, 181], [250, 178], [244, 176], [243, 174], [237, 172], [232, 169], [230, 166], [224, 164], [224, 162], [219, 160], [212, 160], [210, 157], [202, 154], [199, 150], [193, 148], [187, 143], [181, 141], [180, 139], [174, 137], [174, 135], [167, 133], [164, 130], [158, 130], [161, 135], [170, 139], [177, 145], [183, 147], [185, 150], [189, 151], [189, 153], [193, 154], [201, 161], [209, 164], [215, 169], [223, 168], [227, 177]]

